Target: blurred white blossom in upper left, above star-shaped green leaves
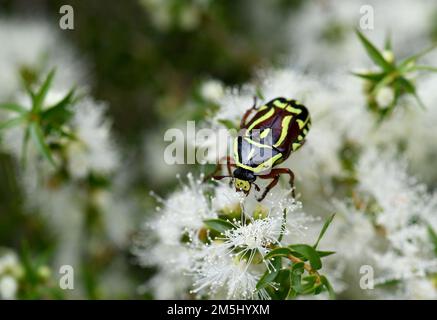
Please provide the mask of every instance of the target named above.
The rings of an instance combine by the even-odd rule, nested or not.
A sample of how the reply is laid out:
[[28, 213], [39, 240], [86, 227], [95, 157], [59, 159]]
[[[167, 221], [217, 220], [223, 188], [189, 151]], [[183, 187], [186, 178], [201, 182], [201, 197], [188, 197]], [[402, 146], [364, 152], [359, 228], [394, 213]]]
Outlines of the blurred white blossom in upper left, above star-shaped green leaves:
[[57, 68], [57, 89], [68, 90], [84, 84], [83, 62], [56, 32], [41, 20], [0, 18], [0, 100], [11, 99], [21, 86], [19, 70], [26, 68], [45, 74]]

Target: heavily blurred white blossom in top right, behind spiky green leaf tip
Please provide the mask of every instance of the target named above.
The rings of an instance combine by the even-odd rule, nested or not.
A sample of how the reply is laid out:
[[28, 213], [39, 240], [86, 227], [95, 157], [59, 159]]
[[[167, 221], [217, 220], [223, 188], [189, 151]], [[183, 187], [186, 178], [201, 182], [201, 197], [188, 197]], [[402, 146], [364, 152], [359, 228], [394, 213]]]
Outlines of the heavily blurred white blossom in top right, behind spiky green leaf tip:
[[[436, 8], [426, 0], [358, 0], [305, 1], [297, 14], [291, 14], [288, 23], [293, 63], [311, 67], [315, 72], [349, 71], [369, 65], [368, 57], [352, 32], [360, 27], [365, 13], [361, 8], [371, 7], [373, 28], [361, 29], [373, 42], [384, 44], [392, 37], [393, 47], [402, 54], [414, 53], [414, 48], [428, 45], [429, 30], [434, 22]], [[396, 10], [393, 10], [396, 8]], [[295, 50], [293, 50], [295, 49]]]

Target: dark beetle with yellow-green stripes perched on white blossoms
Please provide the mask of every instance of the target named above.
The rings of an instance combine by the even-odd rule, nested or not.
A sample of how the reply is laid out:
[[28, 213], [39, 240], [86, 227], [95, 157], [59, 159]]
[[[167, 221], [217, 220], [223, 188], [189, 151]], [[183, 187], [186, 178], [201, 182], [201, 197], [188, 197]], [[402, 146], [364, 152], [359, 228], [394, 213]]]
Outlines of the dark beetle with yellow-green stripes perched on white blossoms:
[[[255, 115], [249, 120], [251, 113]], [[310, 114], [305, 106], [296, 100], [275, 98], [261, 107], [246, 111], [240, 123], [240, 134], [234, 141], [234, 163], [228, 157], [227, 176], [213, 176], [213, 179], [232, 177], [237, 191], [248, 194], [252, 184], [260, 190], [255, 180], [272, 179], [261, 197], [278, 183], [282, 174], [289, 176], [294, 197], [294, 174], [288, 168], [274, 168], [299, 149], [311, 127]], [[231, 173], [231, 167], [236, 167]]]

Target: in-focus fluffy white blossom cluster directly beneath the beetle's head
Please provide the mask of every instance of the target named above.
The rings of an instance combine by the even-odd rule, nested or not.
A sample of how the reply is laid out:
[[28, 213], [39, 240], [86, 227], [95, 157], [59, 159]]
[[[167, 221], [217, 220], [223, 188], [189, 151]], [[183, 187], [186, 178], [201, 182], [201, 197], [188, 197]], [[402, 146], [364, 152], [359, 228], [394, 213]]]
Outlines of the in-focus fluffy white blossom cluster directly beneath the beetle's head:
[[274, 190], [259, 203], [226, 183], [212, 185], [190, 174], [181, 190], [158, 200], [158, 215], [147, 222], [134, 252], [140, 264], [159, 266], [146, 287], [160, 298], [270, 298], [267, 290], [276, 285], [260, 287], [259, 281], [280, 267], [266, 255], [287, 239], [299, 243], [311, 221], [289, 191]]

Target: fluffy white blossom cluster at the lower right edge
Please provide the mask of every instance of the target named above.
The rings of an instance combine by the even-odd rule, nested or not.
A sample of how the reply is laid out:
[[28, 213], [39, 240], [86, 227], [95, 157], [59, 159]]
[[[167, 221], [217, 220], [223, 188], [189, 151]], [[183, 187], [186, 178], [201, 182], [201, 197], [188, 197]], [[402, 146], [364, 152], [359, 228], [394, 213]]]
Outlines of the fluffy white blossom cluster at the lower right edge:
[[[437, 198], [409, 174], [405, 161], [389, 151], [363, 154], [357, 181], [353, 199], [334, 203], [340, 216], [333, 238], [328, 236], [327, 241], [338, 242], [339, 256], [350, 267], [374, 268], [380, 290], [375, 295], [417, 297], [408, 287], [415, 281], [432, 283], [429, 277], [437, 271], [430, 235], [435, 228]], [[397, 286], [385, 287], [392, 282]], [[437, 288], [434, 290], [436, 294]]]

